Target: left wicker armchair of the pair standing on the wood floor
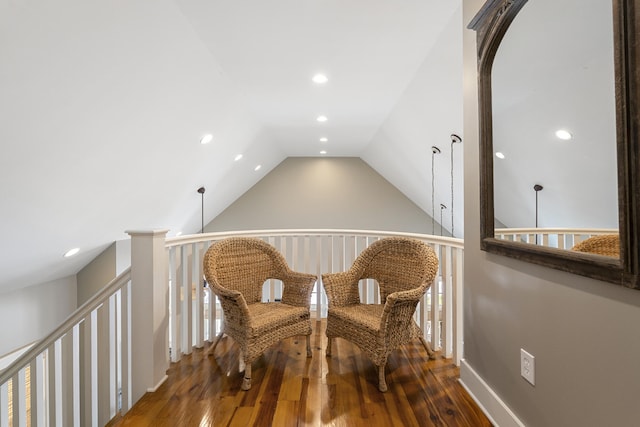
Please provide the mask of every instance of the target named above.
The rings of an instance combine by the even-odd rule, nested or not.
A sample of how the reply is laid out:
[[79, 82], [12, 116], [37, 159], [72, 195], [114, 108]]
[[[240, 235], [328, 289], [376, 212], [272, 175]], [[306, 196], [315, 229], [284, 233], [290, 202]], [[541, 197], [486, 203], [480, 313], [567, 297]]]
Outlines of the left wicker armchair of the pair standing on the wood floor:
[[[212, 245], [204, 256], [204, 275], [224, 312], [218, 339], [227, 334], [240, 346], [243, 390], [251, 388], [251, 363], [284, 338], [306, 335], [311, 357], [309, 305], [316, 276], [292, 271], [273, 246], [244, 237]], [[268, 279], [282, 281], [281, 302], [262, 302]]]

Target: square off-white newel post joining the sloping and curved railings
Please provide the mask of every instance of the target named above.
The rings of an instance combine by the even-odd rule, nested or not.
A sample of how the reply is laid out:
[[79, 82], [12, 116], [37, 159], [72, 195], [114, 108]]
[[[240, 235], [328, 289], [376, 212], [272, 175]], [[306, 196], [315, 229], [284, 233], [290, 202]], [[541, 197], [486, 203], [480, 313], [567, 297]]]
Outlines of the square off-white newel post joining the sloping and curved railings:
[[169, 369], [168, 230], [131, 236], [131, 400], [155, 391]]

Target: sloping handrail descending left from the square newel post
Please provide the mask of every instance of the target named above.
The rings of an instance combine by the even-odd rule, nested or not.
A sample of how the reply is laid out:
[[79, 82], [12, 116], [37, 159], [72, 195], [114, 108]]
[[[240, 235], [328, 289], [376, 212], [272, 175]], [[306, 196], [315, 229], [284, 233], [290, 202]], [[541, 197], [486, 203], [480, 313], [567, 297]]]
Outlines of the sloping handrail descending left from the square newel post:
[[40, 340], [32, 348], [14, 360], [6, 369], [0, 372], [0, 384], [9, 381], [14, 375], [20, 371], [32, 359], [46, 350], [51, 344], [58, 340], [62, 335], [69, 332], [80, 320], [84, 319], [89, 313], [104, 303], [104, 299], [122, 288], [131, 279], [131, 268], [127, 268], [113, 279], [107, 286], [102, 288], [97, 294], [89, 298], [87, 302], [82, 304], [75, 312], [55, 328], [49, 335]]

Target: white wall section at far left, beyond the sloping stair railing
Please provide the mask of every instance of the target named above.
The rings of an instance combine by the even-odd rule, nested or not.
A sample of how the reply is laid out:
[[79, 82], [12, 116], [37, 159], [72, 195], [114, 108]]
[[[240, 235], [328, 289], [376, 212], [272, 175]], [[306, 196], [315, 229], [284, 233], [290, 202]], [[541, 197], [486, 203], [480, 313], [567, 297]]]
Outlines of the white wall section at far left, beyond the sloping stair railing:
[[75, 308], [75, 276], [0, 294], [0, 356], [43, 338]]

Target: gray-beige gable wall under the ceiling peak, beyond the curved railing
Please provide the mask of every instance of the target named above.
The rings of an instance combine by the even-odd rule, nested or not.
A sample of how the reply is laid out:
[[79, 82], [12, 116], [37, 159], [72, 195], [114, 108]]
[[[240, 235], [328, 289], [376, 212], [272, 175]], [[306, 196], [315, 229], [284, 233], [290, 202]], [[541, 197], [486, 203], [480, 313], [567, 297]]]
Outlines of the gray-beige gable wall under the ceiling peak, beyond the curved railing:
[[[432, 222], [359, 158], [290, 157], [207, 224], [205, 231], [296, 228], [431, 233]], [[437, 222], [435, 230], [439, 234]]]

